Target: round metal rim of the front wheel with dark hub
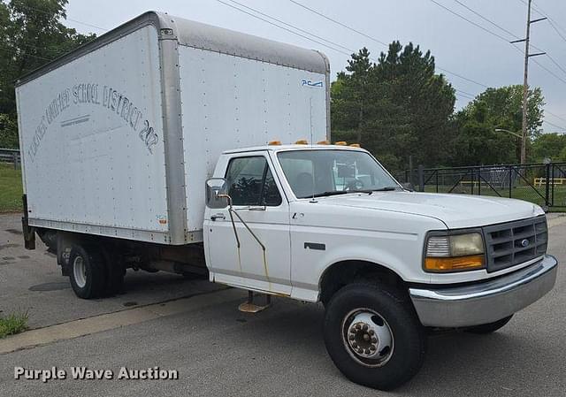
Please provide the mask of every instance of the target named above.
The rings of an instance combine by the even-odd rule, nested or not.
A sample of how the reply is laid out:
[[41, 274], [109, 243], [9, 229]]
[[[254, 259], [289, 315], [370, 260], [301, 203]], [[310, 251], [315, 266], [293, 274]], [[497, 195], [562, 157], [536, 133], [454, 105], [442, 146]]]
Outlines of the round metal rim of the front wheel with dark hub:
[[342, 340], [349, 355], [367, 367], [385, 365], [394, 352], [391, 327], [372, 309], [352, 310], [344, 317]]

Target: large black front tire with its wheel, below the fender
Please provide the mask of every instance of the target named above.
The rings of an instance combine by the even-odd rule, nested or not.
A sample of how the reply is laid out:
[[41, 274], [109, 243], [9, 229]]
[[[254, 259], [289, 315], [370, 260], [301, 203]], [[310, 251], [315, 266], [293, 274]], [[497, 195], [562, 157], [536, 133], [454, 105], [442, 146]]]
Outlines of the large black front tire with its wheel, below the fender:
[[[350, 333], [352, 327], [363, 324], [355, 323], [352, 318], [365, 316], [366, 311], [371, 312], [374, 325], [380, 324], [382, 330], [389, 330], [387, 332], [393, 336], [387, 350], [381, 345], [382, 340], [387, 339], [383, 338], [386, 335], [371, 333], [376, 335], [378, 342], [370, 347], [372, 351], [367, 349], [365, 352], [375, 354], [373, 351], [379, 351], [379, 359], [361, 357], [351, 345], [354, 343], [354, 334]], [[377, 316], [373, 317], [373, 314]], [[363, 328], [355, 331], [364, 332]], [[372, 332], [372, 328], [368, 332]], [[326, 306], [324, 334], [326, 350], [336, 367], [359, 385], [379, 390], [394, 389], [413, 378], [424, 362], [424, 328], [409, 297], [391, 286], [356, 283], [341, 288]], [[366, 338], [368, 334], [362, 336]], [[357, 337], [356, 333], [356, 340]], [[370, 338], [373, 343], [374, 337]]]

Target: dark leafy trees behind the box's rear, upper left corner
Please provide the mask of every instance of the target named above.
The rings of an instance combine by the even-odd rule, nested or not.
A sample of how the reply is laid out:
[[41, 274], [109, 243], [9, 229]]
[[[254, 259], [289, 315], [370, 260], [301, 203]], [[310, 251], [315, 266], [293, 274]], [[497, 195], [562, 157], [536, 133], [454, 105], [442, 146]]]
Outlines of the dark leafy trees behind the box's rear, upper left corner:
[[67, 3], [0, 2], [0, 143], [12, 147], [13, 142], [18, 143], [14, 81], [95, 38], [95, 34], [78, 34], [60, 22], [66, 18]]

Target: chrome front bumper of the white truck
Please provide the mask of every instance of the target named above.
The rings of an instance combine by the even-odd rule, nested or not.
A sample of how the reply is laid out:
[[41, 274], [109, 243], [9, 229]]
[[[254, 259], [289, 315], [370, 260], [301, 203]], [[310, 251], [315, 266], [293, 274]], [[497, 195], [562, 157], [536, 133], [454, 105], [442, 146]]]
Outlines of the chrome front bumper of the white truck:
[[465, 327], [508, 317], [538, 301], [555, 286], [558, 262], [545, 256], [527, 268], [467, 286], [409, 288], [425, 326]]

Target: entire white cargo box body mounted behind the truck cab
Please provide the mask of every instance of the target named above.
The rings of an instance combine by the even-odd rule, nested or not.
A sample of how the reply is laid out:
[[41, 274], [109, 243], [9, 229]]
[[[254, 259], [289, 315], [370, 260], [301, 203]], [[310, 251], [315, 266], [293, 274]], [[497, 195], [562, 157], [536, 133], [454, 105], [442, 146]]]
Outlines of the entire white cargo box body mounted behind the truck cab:
[[325, 140], [322, 53], [147, 12], [19, 80], [29, 225], [203, 240], [223, 150]]

